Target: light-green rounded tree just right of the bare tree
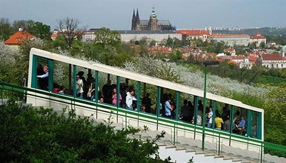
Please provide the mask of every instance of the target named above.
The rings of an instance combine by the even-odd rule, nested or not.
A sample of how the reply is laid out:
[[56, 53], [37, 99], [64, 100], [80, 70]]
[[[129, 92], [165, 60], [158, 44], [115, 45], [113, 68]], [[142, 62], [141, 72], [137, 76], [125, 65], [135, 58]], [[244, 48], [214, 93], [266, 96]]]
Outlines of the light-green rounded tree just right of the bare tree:
[[121, 43], [121, 36], [117, 31], [101, 28], [94, 34], [96, 35], [94, 43], [101, 45], [102, 48], [104, 48], [105, 45], [118, 46]]

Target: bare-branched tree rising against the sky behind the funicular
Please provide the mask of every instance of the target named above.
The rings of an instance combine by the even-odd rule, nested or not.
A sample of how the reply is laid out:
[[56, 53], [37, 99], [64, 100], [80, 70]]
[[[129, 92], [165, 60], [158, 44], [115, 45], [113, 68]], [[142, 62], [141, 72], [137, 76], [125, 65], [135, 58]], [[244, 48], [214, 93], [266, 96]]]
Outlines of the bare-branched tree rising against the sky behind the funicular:
[[79, 28], [80, 21], [74, 18], [63, 18], [58, 21], [59, 33], [64, 37], [64, 40], [68, 47], [71, 47], [74, 40], [80, 39], [85, 32], [84, 29]]

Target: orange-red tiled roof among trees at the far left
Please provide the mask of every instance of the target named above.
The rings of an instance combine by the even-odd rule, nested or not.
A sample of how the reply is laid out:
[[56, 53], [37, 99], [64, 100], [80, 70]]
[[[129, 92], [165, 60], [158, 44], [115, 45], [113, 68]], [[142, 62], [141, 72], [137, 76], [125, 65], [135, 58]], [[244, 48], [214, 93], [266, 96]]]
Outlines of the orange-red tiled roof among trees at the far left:
[[35, 36], [31, 35], [29, 32], [18, 31], [14, 35], [10, 36], [6, 41], [4, 41], [4, 43], [18, 45], [21, 44], [23, 41], [32, 38], [35, 38]]

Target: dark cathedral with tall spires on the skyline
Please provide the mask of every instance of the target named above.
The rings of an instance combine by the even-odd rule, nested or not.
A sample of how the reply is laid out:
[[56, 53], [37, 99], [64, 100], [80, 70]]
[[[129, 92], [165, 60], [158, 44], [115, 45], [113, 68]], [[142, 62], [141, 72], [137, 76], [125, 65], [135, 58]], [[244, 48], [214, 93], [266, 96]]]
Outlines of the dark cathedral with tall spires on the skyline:
[[169, 20], [158, 20], [154, 7], [149, 20], [140, 20], [138, 9], [135, 15], [133, 10], [131, 30], [133, 31], [173, 31]]

